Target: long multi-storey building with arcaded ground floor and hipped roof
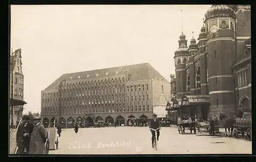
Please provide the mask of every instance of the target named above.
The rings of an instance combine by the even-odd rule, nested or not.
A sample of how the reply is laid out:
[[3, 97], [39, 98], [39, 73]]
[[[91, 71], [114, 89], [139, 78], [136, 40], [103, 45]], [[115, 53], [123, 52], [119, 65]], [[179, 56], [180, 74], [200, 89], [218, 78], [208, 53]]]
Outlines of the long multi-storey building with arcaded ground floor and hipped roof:
[[127, 118], [151, 118], [159, 96], [164, 92], [169, 98], [169, 89], [148, 63], [64, 74], [41, 91], [41, 118], [66, 127], [79, 121], [126, 125]]

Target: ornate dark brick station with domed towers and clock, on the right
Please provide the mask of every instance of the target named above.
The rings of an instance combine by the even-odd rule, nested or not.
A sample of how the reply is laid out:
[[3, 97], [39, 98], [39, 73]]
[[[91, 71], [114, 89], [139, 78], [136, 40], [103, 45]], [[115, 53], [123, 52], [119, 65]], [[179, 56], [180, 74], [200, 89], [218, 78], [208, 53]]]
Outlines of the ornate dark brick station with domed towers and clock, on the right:
[[[251, 109], [250, 6], [212, 5], [198, 37], [175, 52], [178, 114], [207, 119]], [[244, 107], [244, 108], [243, 108]]]

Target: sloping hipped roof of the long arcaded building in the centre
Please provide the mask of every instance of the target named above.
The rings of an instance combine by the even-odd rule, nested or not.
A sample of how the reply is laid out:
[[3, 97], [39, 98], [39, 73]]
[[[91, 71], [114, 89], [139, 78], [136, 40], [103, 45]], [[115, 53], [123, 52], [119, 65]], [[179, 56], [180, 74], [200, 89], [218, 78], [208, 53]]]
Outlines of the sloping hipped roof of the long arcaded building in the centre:
[[159, 72], [155, 70], [153, 66], [149, 63], [140, 63], [133, 65], [125, 65], [111, 68], [102, 68], [98, 70], [86, 71], [86, 72], [77, 72], [77, 73], [69, 73], [63, 74], [57, 80], [55, 80], [52, 84], [50, 84], [47, 89], [55, 89], [58, 87], [59, 82], [62, 80], [74, 81], [74, 80], [101, 80], [101, 77], [109, 76], [115, 77], [116, 75], [125, 75], [126, 73], [131, 74], [131, 78], [129, 81], [140, 81], [140, 80], [160, 80], [168, 82]]

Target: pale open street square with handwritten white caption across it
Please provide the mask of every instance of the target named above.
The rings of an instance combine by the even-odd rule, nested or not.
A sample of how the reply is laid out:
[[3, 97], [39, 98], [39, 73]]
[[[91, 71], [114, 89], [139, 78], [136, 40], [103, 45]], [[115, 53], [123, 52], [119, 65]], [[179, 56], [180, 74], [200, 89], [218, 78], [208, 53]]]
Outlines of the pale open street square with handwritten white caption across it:
[[176, 127], [160, 130], [158, 150], [151, 147], [148, 127], [82, 128], [62, 130], [59, 148], [49, 154], [251, 154], [251, 142], [200, 133], [179, 134]]

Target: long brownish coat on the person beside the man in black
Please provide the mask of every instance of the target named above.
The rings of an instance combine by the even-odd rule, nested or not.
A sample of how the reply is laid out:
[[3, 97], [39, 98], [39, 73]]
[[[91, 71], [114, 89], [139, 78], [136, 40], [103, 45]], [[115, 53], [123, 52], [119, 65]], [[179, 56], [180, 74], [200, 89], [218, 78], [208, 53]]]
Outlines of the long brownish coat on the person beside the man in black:
[[42, 124], [38, 124], [31, 134], [29, 154], [46, 154], [43, 137], [46, 137], [45, 127]]

